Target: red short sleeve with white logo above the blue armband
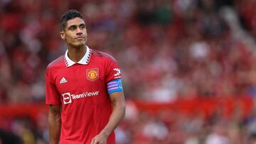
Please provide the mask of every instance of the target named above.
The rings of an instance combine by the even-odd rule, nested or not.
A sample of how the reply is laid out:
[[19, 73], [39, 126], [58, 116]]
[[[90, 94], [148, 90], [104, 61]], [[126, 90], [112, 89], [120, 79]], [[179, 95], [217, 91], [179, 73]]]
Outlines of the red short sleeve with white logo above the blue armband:
[[108, 58], [106, 64], [106, 79], [105, 82], [110, 82], [113, 79], [121, 79], [121, 70], [114, 58]]

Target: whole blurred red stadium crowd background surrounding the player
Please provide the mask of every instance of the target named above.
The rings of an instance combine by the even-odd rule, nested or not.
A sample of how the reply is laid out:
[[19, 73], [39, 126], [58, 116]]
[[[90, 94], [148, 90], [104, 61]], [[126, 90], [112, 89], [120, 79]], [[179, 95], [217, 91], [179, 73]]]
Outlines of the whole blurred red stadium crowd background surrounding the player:
[[45, 69], [60, 16], [122, 68], [118, 144], [256, 143], [255, 0], [0, 0], [0, 143], [48, 143]]

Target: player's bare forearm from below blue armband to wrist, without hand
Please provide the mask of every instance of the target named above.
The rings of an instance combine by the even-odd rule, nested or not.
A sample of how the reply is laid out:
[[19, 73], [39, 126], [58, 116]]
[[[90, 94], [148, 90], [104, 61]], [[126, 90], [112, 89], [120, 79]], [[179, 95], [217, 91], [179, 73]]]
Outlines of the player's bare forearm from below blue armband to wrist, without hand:
[[114, 128], [117, 128], [122, 118], [125, 115], [125, 102], [124, 101], [113, 101], [113, 111], [110, 116], [110, 120], [105, 128], [100, 132], [102, 135], [109, 136]]

